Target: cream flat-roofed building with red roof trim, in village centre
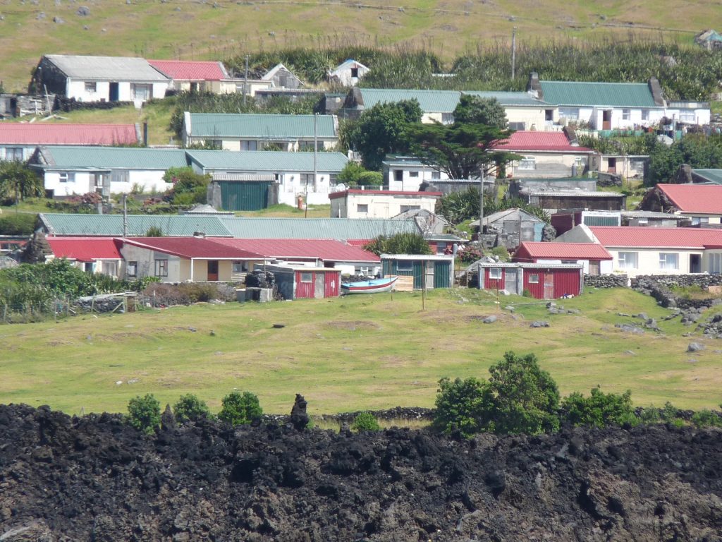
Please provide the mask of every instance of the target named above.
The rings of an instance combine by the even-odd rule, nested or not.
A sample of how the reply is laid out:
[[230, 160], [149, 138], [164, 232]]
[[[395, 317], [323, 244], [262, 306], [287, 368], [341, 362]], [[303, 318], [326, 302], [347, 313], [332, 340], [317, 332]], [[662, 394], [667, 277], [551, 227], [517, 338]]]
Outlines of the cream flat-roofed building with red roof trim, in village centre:
[[329, 194], [329, 199], [332, 218], [391, 218], [412, 210], [433, 212], [441, 196], [441, 192], [348, 189]]

